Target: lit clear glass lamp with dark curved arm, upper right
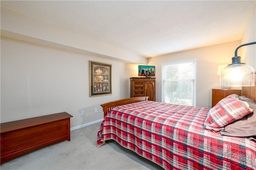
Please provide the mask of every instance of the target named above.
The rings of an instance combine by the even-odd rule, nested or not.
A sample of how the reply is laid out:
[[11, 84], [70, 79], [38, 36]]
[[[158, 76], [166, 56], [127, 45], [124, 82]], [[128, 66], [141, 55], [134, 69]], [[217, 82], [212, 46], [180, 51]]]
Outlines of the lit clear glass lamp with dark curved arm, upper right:
[[240, 47], [252, 44], [256, 44], [256, 42], [245, 43], [236, 48], [232, 63], [220, 72], [220, 86], [247, 87], [255, 85], [254, 68], [246, 63], [241, 63], [241, 57], [237, 56]]

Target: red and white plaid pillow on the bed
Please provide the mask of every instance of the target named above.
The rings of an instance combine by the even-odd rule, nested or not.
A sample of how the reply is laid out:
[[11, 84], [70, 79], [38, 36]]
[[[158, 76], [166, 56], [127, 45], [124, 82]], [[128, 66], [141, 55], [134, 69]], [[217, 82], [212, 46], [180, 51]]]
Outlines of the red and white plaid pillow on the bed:
[[228, 96], [210, 109], [204, 122], [204, 127], [207, 130], [218, 132], [223, 130], [224, 126], [241, 119], [245, 115], [252, 113], [252, 111], [245, 101]]

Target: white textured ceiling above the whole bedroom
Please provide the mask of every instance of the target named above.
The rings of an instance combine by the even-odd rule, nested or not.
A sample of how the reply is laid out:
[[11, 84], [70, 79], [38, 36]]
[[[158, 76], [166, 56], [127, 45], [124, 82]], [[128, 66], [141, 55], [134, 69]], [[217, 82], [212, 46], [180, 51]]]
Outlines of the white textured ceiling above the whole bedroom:
[[1, 8], [144, 57], [241, 40], [256, 1], [3, 1]]

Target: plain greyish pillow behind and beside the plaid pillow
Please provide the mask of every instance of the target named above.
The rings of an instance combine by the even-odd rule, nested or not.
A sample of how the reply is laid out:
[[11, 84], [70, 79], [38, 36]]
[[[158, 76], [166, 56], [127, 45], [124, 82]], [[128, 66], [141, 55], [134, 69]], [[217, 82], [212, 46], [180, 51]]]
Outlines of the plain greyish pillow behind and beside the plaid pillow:
[[240, 96], [239, 98], [242, 101], [246, 101], [253, 112], [244, 116], [242, 119], [238, 119], [226, 125], [224, 130], [220, 130], [220, 134], [247, 137], [249, 140], [256, 140], [256, 103], [254, 100], [244, 96]]

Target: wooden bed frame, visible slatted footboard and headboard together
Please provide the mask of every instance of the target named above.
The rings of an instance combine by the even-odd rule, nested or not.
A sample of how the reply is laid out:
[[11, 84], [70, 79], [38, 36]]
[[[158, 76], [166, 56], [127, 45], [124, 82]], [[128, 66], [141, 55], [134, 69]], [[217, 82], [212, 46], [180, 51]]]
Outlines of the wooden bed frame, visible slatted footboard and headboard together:
[[[252, 86], [252, 87], [242, 87], [242, 96], [248, 97], [250, 99], [254, 99], [254, 101], [256, 101], [256, 83], [255, 83], [255, 86]], [[103, 107], [103, 112], [105, 117], [108, 111], [110, 111], [115, 107], [127, 105], [129, 103], [135, 103], [139, 101], [146, 101], [146, 100], [148, 100], [148, 97], [131, 97], [131, 98], [120, 99], [120, 100], [112, 101], [109, 103], [105, 103], [105, 104], [102, 104], [101, 106]]]

